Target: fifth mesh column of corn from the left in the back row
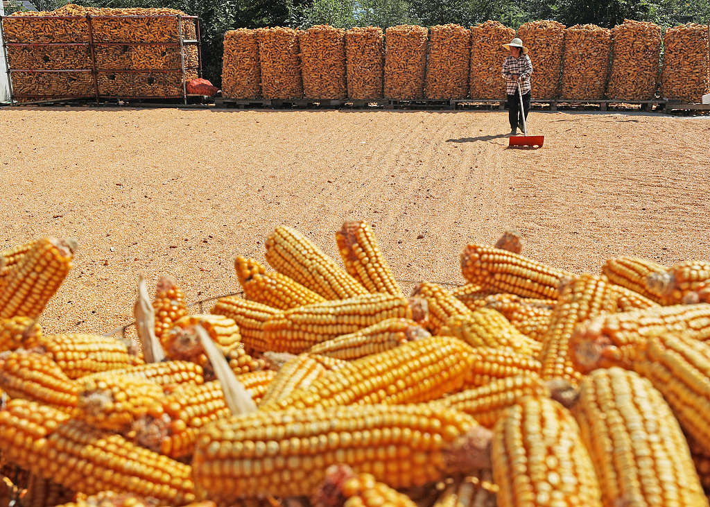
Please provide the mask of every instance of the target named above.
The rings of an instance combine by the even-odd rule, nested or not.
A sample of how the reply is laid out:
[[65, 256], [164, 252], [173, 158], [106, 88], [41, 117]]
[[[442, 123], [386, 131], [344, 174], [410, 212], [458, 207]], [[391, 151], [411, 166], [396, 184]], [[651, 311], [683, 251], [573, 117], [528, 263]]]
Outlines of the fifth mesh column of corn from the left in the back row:
[[398, 25], [385, 31], [385, 84], [387, 99], [424, 97], [427, 69], [427, 28]]

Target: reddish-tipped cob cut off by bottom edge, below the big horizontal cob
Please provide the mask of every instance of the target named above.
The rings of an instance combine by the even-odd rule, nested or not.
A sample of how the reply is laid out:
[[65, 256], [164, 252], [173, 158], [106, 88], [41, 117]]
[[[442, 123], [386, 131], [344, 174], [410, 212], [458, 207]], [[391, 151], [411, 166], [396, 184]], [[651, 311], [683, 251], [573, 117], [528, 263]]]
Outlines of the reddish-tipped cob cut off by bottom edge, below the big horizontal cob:
[[372, 474], [356, 474], [347, 465], [331, 465], [311, 500], [313, 507], [417, 507], [405, 494]]

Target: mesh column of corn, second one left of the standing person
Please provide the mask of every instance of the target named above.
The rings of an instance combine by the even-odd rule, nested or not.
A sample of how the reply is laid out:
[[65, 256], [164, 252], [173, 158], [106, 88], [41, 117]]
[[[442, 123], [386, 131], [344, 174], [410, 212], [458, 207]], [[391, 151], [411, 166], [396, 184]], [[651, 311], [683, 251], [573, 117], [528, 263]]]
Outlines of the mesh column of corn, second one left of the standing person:
[[454, 24], [432, 26], [424, 86], [427, 99], [463, 99], [469, 94], [470, 51], [470, 30]]

